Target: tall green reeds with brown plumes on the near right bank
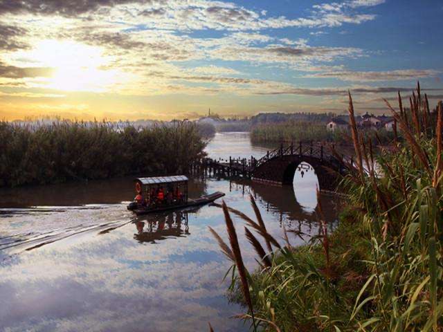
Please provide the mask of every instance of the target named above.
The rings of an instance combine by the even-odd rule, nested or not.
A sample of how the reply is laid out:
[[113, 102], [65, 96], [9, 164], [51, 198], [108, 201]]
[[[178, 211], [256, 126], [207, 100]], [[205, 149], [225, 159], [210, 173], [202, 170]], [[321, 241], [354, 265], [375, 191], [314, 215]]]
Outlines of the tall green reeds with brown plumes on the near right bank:
[[237, 236], [232, 226], [230, 247], [217, 237], [238, 275], [246, 276], [240, 284], [251, 304], [241, 317], [251, 320], [251, 328], [443, 331], [442, 104], [436, 128], [430, 125], [433, 115], [419, 89], [410, 104], [410, 116], [401, 98], [399, 111], [388, 104], [405, 140], [399, 144], [396, 138], [393, 153], [374, 156], [371, 144], [356, 129], [350, 98], [357, 167], [349, 168], [344, 181], [351, 213], [332, 236], [320, 205], [316, 243], [302, 248], [275, 241], [252, 198], [257, 222], [224, 205], [227, 224], [233, 212], [266, 243], [265, 250], [246, 228], [262, 264], [250, 275], [238, 264], [241, 252], [233, 246]]

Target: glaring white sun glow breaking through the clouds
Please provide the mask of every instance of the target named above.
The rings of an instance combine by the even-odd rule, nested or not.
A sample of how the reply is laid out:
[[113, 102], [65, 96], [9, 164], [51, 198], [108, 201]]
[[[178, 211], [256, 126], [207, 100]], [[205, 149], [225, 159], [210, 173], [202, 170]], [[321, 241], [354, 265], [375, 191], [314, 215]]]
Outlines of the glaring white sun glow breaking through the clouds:
[[53, 68], [44, 80], [48, 89], [61, 91], [106, 91], [116, 83], [116, 70], [106, 70], [110, 58], [101, 48], [71, 41], [44, 40], [26, 56], [39, 66]]

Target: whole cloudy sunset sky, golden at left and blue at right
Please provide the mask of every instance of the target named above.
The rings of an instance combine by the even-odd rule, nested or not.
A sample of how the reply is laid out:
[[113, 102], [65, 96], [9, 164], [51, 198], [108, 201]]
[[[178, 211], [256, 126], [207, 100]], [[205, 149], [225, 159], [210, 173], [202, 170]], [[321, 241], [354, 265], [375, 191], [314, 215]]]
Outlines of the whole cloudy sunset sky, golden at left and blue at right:
[[0, 119], [388, 113], [443, 99], [441, 0], [0, 0]]

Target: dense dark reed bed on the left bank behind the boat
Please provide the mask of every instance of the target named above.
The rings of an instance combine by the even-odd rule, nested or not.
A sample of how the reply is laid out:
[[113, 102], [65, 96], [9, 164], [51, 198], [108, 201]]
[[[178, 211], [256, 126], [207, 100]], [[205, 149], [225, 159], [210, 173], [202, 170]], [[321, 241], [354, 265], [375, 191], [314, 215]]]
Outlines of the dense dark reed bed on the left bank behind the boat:
[[0, 186], [181, 173], [204, 147], [197, 126], [188, 122], [145, 129], [102, 122], [33, 129], [0, 122]]

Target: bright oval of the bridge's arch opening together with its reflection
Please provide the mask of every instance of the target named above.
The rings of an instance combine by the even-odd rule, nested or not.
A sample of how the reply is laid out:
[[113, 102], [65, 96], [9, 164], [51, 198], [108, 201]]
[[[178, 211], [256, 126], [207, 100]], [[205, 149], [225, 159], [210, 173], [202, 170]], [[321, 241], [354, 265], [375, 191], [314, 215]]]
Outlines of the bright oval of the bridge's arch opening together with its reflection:
[[[314, 212], [317, 206], [318, 177], [312, 165], [306, 162], [293, 165], [292, 186], [296, 201], [305, 212]], [[291, 172], [292, 173], [292, 172]], [[288, 174], [288, 176], [290, 176]]]

